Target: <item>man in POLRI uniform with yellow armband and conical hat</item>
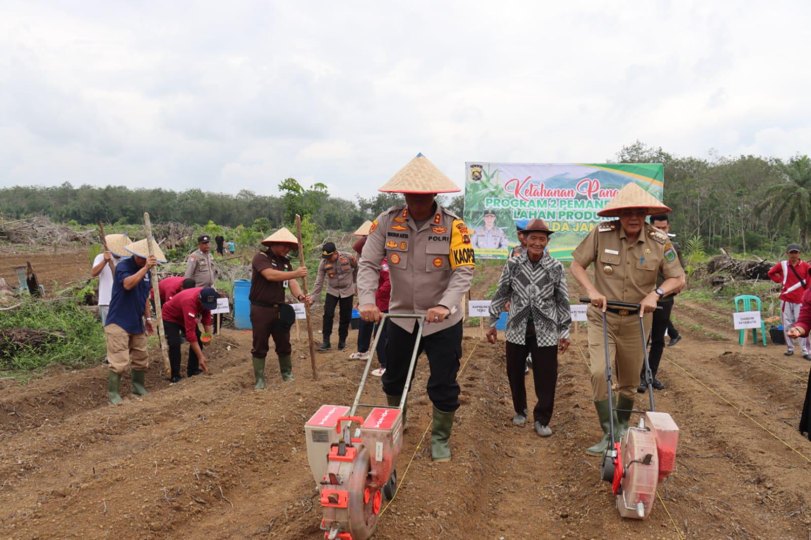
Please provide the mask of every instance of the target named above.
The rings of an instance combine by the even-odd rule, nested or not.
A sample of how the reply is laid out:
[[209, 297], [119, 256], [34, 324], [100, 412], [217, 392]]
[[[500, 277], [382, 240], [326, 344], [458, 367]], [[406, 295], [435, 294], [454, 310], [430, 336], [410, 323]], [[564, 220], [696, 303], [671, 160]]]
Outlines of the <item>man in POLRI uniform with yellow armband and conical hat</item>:
[[[389, 313], [424, 313], [426, 325], [419, 342], [431, 374], [427, 392], [433, 403], [431, 457], [451, 458], [448, 438], [459, 408], [456, 381], [461, 358], [461, 298], [473, 279], [474, 253], [465, 222], [434, 201], [436, 193], [459, 191], [422, 154], [401, 168], [385, 193], [405, 193], [405, 205], [393, 206], [372, 223], [358, 270], [360, 314], [380, 321], [375, 289], [380, 261], [388, 257], [392, 292]], [[414, 320], [392, 319], [388, 327], [383, 389], [388, 404], [399, 405], [417, 338]]]

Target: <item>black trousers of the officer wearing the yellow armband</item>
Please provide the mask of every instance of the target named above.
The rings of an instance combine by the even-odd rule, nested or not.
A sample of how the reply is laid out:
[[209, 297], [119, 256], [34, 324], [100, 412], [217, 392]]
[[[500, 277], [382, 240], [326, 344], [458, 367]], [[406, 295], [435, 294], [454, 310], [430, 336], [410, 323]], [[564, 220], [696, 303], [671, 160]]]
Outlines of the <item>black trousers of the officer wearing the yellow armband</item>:
[[[417, 339], [417, 328], [414, 324], [414, 331], [406, 332], [393, 321], [388, 323], [383, 391], [389, 396], [399, 396], [403, 393], [414, 342]], [[425, 351], [428, 357], [428, 368], [431, 370], [426, 385], [428, 398], [443, 412], [453, 412], [459, 408], [459, 383], [456, 376], [461, 358], [461, 330], [459, 321], [449, 328], [423, 336], [417, 351], [418, 356]], [[414, 372], [416, 371], [415, 365]]]

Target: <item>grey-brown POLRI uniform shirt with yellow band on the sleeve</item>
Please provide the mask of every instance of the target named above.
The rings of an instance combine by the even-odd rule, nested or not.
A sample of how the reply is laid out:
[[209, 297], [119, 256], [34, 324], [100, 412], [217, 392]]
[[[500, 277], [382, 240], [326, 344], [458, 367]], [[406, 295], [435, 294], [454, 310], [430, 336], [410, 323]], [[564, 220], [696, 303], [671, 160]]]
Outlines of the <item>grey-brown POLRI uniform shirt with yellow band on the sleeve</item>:
[[[441, 323], [423, 327], [429, 335], [457, 324], [461, 298], [470, 289], [475, 266], [470, 233], [465, 222], [437, 205], [435, 215], [417, 227], [408, 208], [393, 206], [371, 224], [358, 267], [360, 305], [375, 303], [380, 261], [388, 257], [392, 284], [389, 313], [426, 313], [437, 305], [453, 310]], [[403, 330], [414, 330], [413, 320], [392, 319]]]

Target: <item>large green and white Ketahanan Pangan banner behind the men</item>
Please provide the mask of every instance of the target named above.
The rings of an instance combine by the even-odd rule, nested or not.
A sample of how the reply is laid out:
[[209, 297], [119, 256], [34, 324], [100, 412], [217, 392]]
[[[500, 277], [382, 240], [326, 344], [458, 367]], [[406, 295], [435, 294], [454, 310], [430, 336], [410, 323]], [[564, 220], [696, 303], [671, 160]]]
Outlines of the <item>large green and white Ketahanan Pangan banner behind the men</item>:
[[571, 261], [600, 221], [597, 212], [629, 182], [662, 200], [661, 164], [465, 164], [465, 223], [477, 258], [505, 259], [518, 245], [516, 221], [541, 218], [555, 234], [549, 253]]

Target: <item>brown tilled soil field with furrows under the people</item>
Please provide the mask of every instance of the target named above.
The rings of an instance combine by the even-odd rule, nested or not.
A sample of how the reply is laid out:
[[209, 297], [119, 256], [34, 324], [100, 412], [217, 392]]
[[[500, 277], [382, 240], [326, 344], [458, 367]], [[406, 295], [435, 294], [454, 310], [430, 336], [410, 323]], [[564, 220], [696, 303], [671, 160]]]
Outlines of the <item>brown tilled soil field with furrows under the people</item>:
[[[723, 314], [686, 303], [674, 313], [723, 339], [685, 327], [666, 349], [667, 389], [655, 396], [680, 445], [647, 520], [619, 517], [597, 458], [583, 452], [600, 436], [585, 332], [560, 357], [554, 433], [541, 439], [510, 421], [503, 338], [491, 346], [473, 328], [453, 461], [431, 462], [423, 357], [400, 488], [375, 538], [809, 538], [811, 444], [796, 431], [809, 363], [781, 347], [743, 353]], [[104, 366], [4, 385], [0, 537], [323, 538], [303, 424], [324, 403], [351, 404], [363, 364], [347, 359], [351, 347], [319, 355], [313, 381], [306, 343], [294, 342], [296, 381], [282, 384], [269, 358], [258, 392], [250, 342], [226, 330], [208, 349], [211, 375], [177, 385], [152, 351], [150, 394], [124, 391], [121, 406], [106, 403]], [[378, 381], [369, 388], [384, 402]]]

